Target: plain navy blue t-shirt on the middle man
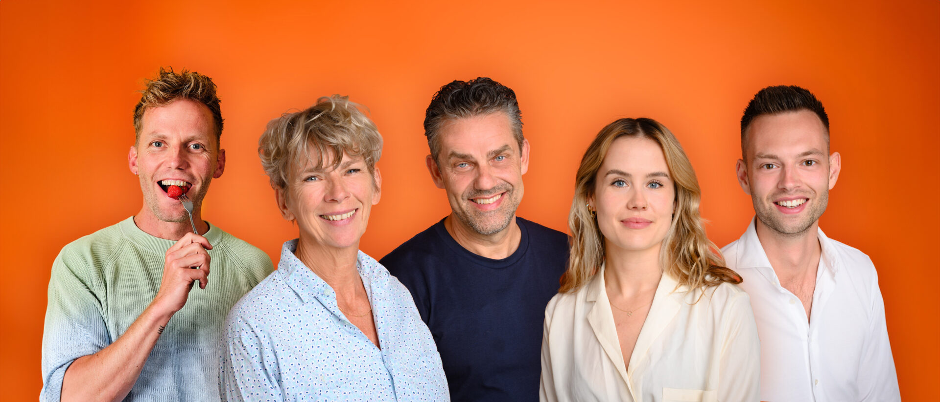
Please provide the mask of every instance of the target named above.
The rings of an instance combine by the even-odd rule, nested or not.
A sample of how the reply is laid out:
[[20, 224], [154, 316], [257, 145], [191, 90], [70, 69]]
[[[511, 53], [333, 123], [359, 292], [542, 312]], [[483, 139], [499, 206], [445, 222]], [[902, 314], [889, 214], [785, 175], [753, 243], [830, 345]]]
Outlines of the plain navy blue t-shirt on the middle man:
[[379, 261], [411, 290], [455, 402], [539, 400], [542, 321], [568, 262], [568, 236], [516, 223], [519, 248], [503, 260], [463, 248], [441, 219]]

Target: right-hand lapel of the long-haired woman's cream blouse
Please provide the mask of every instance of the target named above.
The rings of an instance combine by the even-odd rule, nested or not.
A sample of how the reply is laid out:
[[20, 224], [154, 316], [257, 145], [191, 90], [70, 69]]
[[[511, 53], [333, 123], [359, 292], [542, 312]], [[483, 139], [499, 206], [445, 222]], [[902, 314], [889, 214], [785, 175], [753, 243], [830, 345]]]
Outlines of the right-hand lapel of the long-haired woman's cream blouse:
[[633, 378], [637, 365], [646, 357], [652, 343], [663, 333], [663, 330], [676, 317], [682, 307], [682, 296], [685, 294], [685, 287], [676, 289], [677, 284], [676, 280], [666, 273], [663, 273], [663, 277], [659, 280], [659, 286], [656, 287], [656, 294], [653, 296], [652, 305], [650, 305], [650, 313], [647, 314], [647, 319], [643, 322], [640, 335], [636, 338], [634, 352], [630, 355], [630, 366], [627, 374], [631, 378]]

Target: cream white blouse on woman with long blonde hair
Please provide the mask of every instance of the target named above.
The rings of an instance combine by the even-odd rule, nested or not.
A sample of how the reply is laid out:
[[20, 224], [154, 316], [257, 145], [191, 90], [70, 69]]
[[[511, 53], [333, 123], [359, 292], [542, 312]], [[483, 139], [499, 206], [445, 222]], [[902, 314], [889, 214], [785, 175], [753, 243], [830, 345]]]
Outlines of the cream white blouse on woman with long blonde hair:
[[663, 275], [629, 367], [603, 268], [545, 308], [541, 401], [758, 401], [759, 381], [757, 325], [735, 285], [702, 294]]

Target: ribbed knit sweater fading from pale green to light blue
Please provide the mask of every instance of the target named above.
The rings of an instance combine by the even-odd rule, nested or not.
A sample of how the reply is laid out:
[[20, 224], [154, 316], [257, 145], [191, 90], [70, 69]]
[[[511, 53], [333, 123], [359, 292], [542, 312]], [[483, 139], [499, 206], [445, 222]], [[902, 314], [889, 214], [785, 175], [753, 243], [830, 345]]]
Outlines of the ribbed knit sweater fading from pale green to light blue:
[[[209, 286], [194, 287], [126, 401], [219, 400], [218, 357], [228, 310], [274, 270], [255, 246], [210, 225]], [[71, 363], [110, 345], [150, 304], [176, 242], [141, 231], [133, 217], [62, 248], [53, 262], [42, 334], [42, 401], [58, 401]]]

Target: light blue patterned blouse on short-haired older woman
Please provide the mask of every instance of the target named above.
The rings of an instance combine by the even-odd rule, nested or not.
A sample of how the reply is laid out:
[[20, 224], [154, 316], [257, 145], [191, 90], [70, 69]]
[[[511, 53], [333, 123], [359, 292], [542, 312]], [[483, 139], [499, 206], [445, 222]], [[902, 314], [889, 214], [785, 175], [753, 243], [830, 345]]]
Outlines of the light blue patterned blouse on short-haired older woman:
[[219, 358], [224, 400], [446, 401], [441, 357], [411, 293], [359, 251], [378, 349], [339, 311], [337, 295], [284, 244], [277, 270], [226, 321]]

